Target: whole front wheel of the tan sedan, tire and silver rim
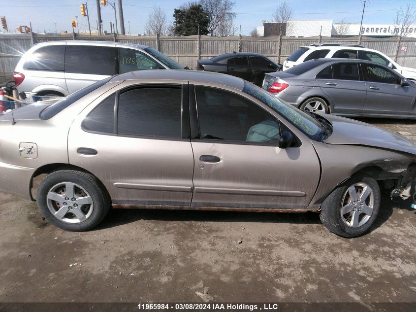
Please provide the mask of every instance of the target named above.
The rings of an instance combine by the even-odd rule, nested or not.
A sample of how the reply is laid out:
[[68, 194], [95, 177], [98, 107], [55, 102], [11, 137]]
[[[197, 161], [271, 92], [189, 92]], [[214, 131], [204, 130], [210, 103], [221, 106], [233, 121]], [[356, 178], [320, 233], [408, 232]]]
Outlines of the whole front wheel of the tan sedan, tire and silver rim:
[[353, 238], [374, 223], [380, 208], [380, 187], [371, 177], [352, 178], [323, 201], [320, 220], [329, 231]]

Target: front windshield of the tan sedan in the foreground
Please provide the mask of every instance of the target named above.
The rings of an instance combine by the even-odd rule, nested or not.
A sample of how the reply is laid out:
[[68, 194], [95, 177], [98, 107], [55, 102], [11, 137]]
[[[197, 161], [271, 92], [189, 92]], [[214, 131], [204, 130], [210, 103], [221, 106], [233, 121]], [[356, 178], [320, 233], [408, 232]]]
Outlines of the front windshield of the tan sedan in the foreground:
[[311, 115], [290, 104], [279, 101], [277, 98], [263, 89], [256, 87], [252, 83], [245, 81], [243, 92], [271, 107], [311, 139], [316, 140], [319, 138], [322, 131], [322, 125]]

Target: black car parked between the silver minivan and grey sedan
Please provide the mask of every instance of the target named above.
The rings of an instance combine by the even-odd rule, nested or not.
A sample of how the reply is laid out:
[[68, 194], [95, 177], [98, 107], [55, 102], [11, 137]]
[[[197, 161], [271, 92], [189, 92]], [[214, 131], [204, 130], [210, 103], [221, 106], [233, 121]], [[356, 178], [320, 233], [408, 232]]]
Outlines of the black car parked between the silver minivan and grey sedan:
[[210, 60], [198, 60], [196, 69], [227, 73], [261, 86], [264, 73], [282, 70], [282, 65], [274, 63], [261, 54], [233, 52]]

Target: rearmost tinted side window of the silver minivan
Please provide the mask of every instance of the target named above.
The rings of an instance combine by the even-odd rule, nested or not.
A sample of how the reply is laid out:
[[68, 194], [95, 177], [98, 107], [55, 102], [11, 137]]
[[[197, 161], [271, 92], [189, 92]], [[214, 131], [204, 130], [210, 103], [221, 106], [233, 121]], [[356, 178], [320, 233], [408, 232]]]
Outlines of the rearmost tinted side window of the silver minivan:
[[64, 45], [50, 45], [35, 50], [31, 61], [23, 64], [24, 69], [64, 71]]

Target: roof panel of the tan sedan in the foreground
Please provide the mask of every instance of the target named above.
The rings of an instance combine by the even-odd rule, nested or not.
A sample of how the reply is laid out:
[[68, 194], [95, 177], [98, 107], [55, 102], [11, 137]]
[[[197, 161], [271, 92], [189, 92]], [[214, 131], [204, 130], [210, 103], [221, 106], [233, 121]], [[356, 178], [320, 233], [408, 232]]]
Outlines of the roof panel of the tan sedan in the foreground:
[[129, 71], [116, 75], [110, 79], [109, 82], [124, 81], [124, 80], [181, 80], [192, 81], [195, 83], [215, 83], [226, 85], [231, 88], [242, 90], [244, 87], [244, 80], [231, 75], [226, 75], [218, 72], [187, 70], [187, 69], [148, 69]]

